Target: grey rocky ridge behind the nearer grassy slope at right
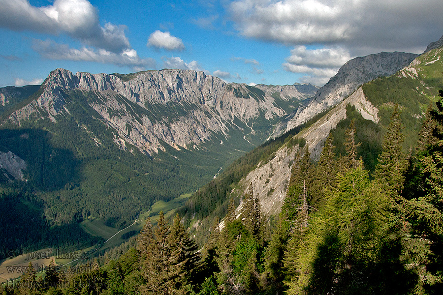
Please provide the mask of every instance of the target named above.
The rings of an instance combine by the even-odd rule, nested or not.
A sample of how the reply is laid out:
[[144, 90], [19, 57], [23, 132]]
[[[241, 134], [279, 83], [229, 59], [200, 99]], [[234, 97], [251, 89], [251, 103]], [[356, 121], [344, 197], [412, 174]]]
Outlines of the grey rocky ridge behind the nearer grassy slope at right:
[[285, 118], [276, 127], [273, 136], [288, 131], [316, 114], [337, 105], [363, 83], [396, 73], [416, 57], [417, 55], [411, 53], [381, 52], [349, 60], [326, 85], [317, 91], [314, 97]]

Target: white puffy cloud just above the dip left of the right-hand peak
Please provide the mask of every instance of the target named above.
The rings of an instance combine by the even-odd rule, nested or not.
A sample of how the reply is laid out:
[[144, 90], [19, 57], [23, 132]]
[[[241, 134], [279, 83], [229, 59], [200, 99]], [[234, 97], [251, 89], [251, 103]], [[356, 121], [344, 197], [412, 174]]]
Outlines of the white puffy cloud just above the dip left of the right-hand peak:
[[291, 50], [283, 68], [293, 73], [306, 74], [302, 81], [322, 86], [334, 76], [340, 67], [352, 59], [348, 50], [340, 47], [307, 49], [297, 46]]

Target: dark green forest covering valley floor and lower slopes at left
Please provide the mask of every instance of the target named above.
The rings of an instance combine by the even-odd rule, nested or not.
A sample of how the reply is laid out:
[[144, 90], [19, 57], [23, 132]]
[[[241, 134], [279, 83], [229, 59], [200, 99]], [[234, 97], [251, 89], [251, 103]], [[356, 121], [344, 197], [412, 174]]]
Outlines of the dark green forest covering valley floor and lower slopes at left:
[[[195, 191], [224, 163], [238, 157], [240, 149], [253, 148], [238, 131], [231, 136], [238, 137], [239, 144], [220, 145], [225, 139], [218, 139], [217, 135], [214, 142], [206, 144], [206, 150], [176, 150], [164, 144], [166, 150], [153, 159], [128, 144], [129, 151], [121, 149], [113, 141], [117, 131], [95, 119], [99, 115], [89, 104], [105, 97], [71, 91], [65, 99], [69, 114], [63, 112], [57, 123], [36, 119], [23, 121], [20, 128], [3, 124], [0, 129], [0, 151], [12, 151], [27, 163], [26, 182], [11, 185], [2, 174], [0, 189], [9, 199], [26, 192], [30, 196], [26, 198], [38, 204], [38, 214], [44, 216], [45, 223], [42, 232], [35, 231], [35, 238], [11, 231], [10, 239], [1, 245], [2, 251], [12, 249], [19, 254], [24, 245], [30, 249], [41, 248], [40, 243], [52, 246], [52, 242], [38, 241], [37, 236], [45, 233], [45, 227], [60, 230], [72, 225], [77, 229], [72, 230], [75, 234], [81, 231], [78, 223], [100, 219], [107, 227], [125, 228], [157, 201], [168, 202]], [[123, 97], [118, 99], [126, 105], [130, 116], [144, 110]], [[131, 132], [128, 127], [127, 132]], [[91, 238], [80, 233], [71, 240], [78, 239], [77, 247], [84, 248], [85, 241]], [[5, 257], [5, 252], [1, 253], [0, 258]]]

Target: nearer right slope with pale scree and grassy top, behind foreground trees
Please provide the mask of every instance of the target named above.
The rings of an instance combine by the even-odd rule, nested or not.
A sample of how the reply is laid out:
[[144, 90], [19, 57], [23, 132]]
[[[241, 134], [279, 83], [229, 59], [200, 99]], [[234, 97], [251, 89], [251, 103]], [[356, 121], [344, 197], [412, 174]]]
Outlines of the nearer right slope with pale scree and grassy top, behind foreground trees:
[[[362, 146], [357, 150], [362, 155], [369, 169], [376, 164], [374, 161], [380, 153], [381, 140], [385, 126], [389, 123], [395, 103], [402, 110], [401, 118], [407, 134], [404, 148], [409, 150], [416, 144], [416, 134], [421, 127], [421, 116], [430, 101], [435, 101], [438, 89], [443, 87], [443, 47], [432, 50], [414, 59], [408, 66], [395, 75], [381, 77], [363, 84], [350, 94], [343, 102], [316, 119], [309, 127], [296, 135], [282, 135], [284, 143], [275, 150], [266, 161], [256, 161], [240, 180], [232, 182], [230, 190], [226, 190], [220, 205], [209, 216], [198, 214], [198, 208], [188, 207], [192, 216], [201, 219], [193, 220], [194, 229], [204, 233], [212, 224], [214, 216], [223, 217], [227, 208], [227, 200], [234, 197], [241, 207], [242, 196], [250, 183], [253, 192], [260, 198], [263, 213], [267, 216], [278, 213], [285, 199], [285, 192], [291, 173], [291, 165], [295, 155], [301, 151], [302, 145], [293, 143], [304, 139], [309, 145], [314, 160], [318, 159], [321, 149], [329, 133], [336, 136], [336, 151], [343, 150], [344, 130], [348, 128], [350, 118], [357, 119], [357, 139]], [[242, 170], [242, 167], [237, 167]], [[221, 175], [233, 179], [229, 175]], [[221, 180], [223, 181], [223, 180]], [[198, 195], [198, 193], [196, 194]], [[190, 199], [197, 203], [196, 200]], [[198, 236], [198, 235], [197, 235]]]

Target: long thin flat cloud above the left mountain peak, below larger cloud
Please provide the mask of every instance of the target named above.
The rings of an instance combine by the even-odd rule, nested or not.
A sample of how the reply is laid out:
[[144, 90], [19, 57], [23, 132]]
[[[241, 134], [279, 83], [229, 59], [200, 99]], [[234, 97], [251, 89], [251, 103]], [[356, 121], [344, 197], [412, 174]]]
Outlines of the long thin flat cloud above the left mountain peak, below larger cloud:
[[141, 59], [133, 49], [114, 53], [104, 49], [82, 47], [81, 49], [70, 48], [66, 44], [58, 44], [52, 40], [32, 41], [32, 48], [46, 59], [63, 59], [76, 61], [94, 61], [100, 63], [111, 63], [119, 66], [129, 66], [141, 70], [146, 67], [154, 68], [154, 59]]

